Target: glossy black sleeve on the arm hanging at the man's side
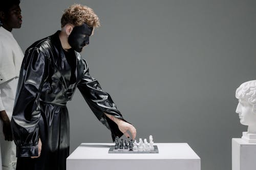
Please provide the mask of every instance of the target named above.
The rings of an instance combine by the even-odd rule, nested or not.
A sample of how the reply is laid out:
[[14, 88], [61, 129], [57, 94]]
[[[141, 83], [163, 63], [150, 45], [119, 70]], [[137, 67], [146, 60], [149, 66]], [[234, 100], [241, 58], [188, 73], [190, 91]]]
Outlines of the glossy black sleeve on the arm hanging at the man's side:
[[47, 66], [48, 59], [39, 48], [32, 47], [25, 52], [11, 120], [17, 157], [38, 155], [39, 96], [46, 79]]

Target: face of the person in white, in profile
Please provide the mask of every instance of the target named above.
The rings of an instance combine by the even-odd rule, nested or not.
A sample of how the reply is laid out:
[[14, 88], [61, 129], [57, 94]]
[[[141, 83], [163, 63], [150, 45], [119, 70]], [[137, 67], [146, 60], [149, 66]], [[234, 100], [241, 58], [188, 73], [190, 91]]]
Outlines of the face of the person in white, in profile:
[[8, 31], [12, 31], [13, 28], [20, 28], [22, 26], [21, 12], [19, 5], [13, 5], [7, 12], [1, 12], [3, 27]]

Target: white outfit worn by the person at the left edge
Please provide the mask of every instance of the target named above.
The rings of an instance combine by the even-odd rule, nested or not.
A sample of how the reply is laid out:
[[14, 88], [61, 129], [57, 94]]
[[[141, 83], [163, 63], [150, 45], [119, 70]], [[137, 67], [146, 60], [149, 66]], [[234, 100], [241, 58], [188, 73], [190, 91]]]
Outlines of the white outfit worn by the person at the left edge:
[[[5, 110], [11, 120], [18, 76], [24, 55], [11, 32], [0, 27], [0, 111]], [[16, 146], [5, 140], [0, 121], [0, 143], [3, 170], [16, 169]]]

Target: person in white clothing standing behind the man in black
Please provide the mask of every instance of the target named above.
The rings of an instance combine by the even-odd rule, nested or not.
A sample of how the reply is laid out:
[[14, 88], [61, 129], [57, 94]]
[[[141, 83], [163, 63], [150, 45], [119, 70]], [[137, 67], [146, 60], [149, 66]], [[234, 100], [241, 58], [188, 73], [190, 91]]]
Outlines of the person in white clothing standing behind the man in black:
[[11, 31], [20, 28], [22, 15], [17, 0], [0, 1], [0, 169], [16, 169], [16, 147], [10, 121], [23, 52]]

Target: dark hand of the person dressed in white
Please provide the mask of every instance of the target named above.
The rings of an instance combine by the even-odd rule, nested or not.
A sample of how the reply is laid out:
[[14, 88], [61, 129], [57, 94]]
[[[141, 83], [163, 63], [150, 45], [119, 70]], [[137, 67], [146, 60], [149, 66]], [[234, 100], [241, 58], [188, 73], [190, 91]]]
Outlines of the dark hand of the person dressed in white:
[[0, 117], [3, 121], [3, 133], [5, 135], [5, 140], [12, 141], [12, 129], [11, 129], [11, 123], [10, 119], [6, 114], [6, 111], [0, 111]]

